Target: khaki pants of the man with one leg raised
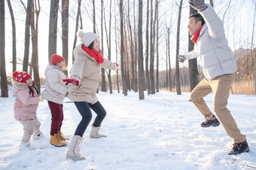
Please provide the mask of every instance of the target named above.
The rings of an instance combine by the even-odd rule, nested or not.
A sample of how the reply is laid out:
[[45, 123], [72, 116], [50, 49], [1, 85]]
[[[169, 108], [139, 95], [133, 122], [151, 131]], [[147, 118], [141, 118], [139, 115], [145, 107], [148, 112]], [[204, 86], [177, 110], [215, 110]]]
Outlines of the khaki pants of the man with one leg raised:
[[230, 87], [235, 79], [235, 74], [225, 74], [215, 79], [208, 80], [204, 78], [190, 94], [190, 100], [197, 106], [197, 109], [209, 120], [213, 114], [206, 105], [203, 97], [213, 93], [213, 109], [218, 119], [221, 121], [227, 135], [233, 138], [234, 143], [245, 141], [236, 125], [236, 121], [227, 109], [227, 99], [230, 94]]

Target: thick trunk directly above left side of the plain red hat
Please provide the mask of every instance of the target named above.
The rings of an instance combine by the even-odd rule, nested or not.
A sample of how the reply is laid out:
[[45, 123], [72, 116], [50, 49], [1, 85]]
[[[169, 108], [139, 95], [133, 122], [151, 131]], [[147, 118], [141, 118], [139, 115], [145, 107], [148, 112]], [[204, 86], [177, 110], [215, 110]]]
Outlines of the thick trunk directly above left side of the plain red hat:
[[50, 63], [51, 55], [56, 54], [57, 48], [57, 25], [58, 25], [59, 0], [50, 1], [50, 21], [49, 21], [49, 43], [48, 59]]

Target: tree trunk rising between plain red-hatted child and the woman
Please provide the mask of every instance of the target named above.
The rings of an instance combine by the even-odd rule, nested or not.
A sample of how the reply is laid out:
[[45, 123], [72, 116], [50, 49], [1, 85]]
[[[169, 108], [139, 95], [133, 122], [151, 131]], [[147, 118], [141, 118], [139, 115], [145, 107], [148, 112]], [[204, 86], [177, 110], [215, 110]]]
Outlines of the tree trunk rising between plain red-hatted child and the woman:
[[62, 57], [65, 58], [64, 73], [68, 76], [69, 67], [69, 0], [62, 0]]

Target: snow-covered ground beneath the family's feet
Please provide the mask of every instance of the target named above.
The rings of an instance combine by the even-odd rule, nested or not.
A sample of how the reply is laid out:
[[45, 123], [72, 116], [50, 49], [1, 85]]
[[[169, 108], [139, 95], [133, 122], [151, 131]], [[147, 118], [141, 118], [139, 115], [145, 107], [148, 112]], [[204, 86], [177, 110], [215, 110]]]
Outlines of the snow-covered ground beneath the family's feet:
[[[49, 143], [46, 100], [38, 106], [44, 139], [31, 139], [33, 151], [19, 151], [23, 127], [14, 120], [14, 97], [0, 97], [0, 169], [256, 169], [256, 96], [230, 95], [228, 108], [251, 149], [237, 156], [227, 155], [232, 140], [222, 126], [200, 127], [205, 119], [187, 93], [145, 93], [141, 101], [134, 92], [97, 96], [107, 111], [101, 133], [108, 137], [90, 139], [91, 122], [81, 144], [87, 160], [76, 163], [66, 159], [69, 142], [62, 148]], [[205, 99], [212, 109], [212, 94]], [[65, 103], [64, 116], [62, 133], [71, 139], [81, 115]]]

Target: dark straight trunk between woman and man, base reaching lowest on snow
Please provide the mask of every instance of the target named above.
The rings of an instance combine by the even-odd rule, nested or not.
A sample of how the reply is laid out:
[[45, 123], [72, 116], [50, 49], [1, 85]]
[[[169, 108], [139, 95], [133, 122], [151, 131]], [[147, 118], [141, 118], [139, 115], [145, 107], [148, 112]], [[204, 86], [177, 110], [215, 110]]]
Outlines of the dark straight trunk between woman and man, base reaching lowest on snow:
[[138, 18], [138, 72], [139, 72], [139, 100], [144, 100], [144, 68], [143, 68], [143, 40], [142, 40], [142, 12], [143, 1], [139, 0], [139, 18]]

